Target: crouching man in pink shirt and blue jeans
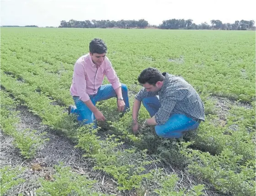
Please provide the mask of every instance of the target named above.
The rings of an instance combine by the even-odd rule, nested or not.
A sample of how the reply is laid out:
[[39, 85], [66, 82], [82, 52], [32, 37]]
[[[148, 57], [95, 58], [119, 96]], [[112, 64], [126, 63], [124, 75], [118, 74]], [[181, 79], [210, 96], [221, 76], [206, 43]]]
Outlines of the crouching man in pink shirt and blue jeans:
[[[68, 114], [76, 114], [77, 120], [83, 124], [106, 120], [95, 107], [98, 101], [116, 97], [118, 111], [125, 112], [130, 108], [127, 86], [120, 83], [106, 57], [106, 44], [102, 39], [95, 38], [90, 42], [89, 50], [90, 52], [81, 56], [74, 66], [70, 93], [76, 106], [70, 105], [68, 109]], [[110, 84], [102, 85], [104, 76]], [[95, 122], [94, 128], [96, 127]]]

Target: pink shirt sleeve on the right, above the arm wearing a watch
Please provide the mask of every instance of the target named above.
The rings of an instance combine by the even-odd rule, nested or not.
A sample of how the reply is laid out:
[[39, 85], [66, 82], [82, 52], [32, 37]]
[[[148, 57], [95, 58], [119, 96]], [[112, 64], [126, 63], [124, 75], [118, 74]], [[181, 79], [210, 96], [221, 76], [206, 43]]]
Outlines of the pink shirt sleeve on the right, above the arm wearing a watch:
[[105, 75], [108, 78], [108, 81], [110, 82], [110, 84], [112, 85], [112, 87], [115, 89], [117, 89], [118, 87], [121, 87], [121, 83], [120, 80], [118, 78], [118, 76], [116, 75], [116, 72], [114, 71], [114, 68], [111, 64], [111, 62], [109, 61], [109, 59], [107, 59], [106, 57], [106, 69], [105, 69]]

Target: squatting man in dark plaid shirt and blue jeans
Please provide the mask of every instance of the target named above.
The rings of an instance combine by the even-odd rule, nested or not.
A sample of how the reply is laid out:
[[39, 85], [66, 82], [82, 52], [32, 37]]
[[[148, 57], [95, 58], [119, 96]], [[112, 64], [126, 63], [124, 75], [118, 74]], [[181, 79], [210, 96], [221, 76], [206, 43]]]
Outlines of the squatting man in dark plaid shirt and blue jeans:
[[204, 119], [204, 106], [196, 90], [180, 76], [144, 69], [138, 76], [143, 88], [136, 94], [132, 109], [132, 130], [138, 133], [137, 122], [141, 102], [151, 118], [145, 125], [155, 125], [158, 136], [179, 138], [195, 130]]

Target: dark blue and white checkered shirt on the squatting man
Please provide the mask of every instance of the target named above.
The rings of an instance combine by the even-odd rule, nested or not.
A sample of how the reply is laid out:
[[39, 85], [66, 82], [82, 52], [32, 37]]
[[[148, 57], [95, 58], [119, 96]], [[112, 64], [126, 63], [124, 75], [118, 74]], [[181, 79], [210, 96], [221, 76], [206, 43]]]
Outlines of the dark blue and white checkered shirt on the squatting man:
[[164, 124], [171, 114], [185, 114], [194, 120], [205, 120], [204, 105], [196, 90], [180, 76], [162, 73], [163, 86], [158, 93], [147, 92], [142, 88], [135, 98], [142, 101], [145, 97], [159, 96], [160, 108], [154, 115], [158, 125]]

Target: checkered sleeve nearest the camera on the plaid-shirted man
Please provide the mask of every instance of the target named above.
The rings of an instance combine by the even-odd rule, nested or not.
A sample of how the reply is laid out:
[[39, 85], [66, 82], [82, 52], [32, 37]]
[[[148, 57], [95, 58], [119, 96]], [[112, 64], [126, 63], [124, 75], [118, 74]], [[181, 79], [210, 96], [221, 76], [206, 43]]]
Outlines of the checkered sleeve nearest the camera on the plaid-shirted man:
[[155, 121], [158, 125], [163, 125], [169, 120], [170, 115], [177, 102], [175, 91], [169, 91], [168, 95], [165, 95], [161, 101], [160, 108], [158, 109], [155, 116]]

